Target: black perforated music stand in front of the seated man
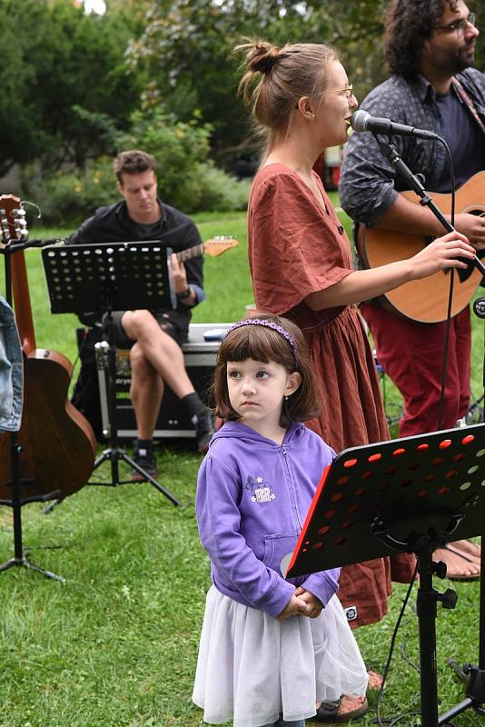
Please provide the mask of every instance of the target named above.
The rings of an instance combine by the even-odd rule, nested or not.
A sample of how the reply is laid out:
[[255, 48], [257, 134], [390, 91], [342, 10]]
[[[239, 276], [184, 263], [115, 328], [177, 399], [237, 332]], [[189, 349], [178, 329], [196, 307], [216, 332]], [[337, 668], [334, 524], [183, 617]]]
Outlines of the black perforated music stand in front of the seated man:
[[109, 447], [94, 462], [94, 470], [109, 460], [111, 483], [120, 480], [118, 463], [129, 464], [174, 505], [180, 502], [118, 446], [116, 424], [116, 347], [113, 313], [116, 310], [173, 308], [175, 295], [168, 273], [172, 250], [160, 242], [49, 245], [42, 251], [51, 312], [99, 314], [104, 322], [107, 351]]

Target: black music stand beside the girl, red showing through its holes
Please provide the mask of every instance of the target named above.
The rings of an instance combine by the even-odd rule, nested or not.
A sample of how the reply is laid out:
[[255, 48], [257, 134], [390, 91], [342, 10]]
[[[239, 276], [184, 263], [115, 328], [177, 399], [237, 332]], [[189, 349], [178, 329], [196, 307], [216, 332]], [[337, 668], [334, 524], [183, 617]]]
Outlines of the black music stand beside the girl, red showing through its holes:
[[433, 574], [443, 578], [446, 566], [434, 563], [432, 553], [483, 533], [484, 464], [483, 423], [345, 450], [322, 474], [285, 572], [292, 577], [416, 554], [421, 727], [446, 723], [446, 715], [438, 716], [436, 604], [454, 608], [457, 600], [450, 589], [433, 589]]

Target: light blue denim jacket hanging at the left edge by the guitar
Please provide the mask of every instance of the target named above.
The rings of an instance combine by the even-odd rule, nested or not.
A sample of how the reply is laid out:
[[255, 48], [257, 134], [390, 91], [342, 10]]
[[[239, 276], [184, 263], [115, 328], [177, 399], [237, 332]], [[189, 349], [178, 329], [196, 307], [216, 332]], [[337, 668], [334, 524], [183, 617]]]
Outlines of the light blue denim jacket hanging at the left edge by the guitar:
[[18, 432], [22, 418], [24, 361], [12, 308], [0, 295], [0, 432]]

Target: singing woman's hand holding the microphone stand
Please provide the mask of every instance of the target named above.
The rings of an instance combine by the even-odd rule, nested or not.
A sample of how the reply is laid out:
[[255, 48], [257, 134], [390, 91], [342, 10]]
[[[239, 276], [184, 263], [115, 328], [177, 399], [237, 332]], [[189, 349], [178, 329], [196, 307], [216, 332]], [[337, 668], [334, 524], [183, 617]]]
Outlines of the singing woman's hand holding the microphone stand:
[[450, 267], [466, 268], [466, 262], [459, 258], [470, 260], [474, 254], [475, 250], [464, 234], [444, 234], [411, 257], [412, 279], [420, 280]]

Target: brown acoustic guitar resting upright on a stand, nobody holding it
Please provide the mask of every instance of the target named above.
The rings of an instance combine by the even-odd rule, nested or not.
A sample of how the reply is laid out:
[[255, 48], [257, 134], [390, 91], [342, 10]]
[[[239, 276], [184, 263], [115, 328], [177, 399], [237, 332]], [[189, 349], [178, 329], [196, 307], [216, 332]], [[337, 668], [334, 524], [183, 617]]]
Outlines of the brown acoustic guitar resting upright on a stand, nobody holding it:
[[[3, 244], [26, 238], [20, 199], [0, 196]], [[94, 467], [95, 439], [91, 425], [68, 401], [73, 373], [63, 354], [38, 349], [30, 305], [24, 252], [11, 255], [15, 320], [24, 353], [24, 407], [17, 433], [21, 447], [21, 500], [56, 493], [64, 498], [87, 483]], [[9, 433], [0, 435], [0, 500], [12, 500]]]

